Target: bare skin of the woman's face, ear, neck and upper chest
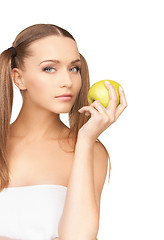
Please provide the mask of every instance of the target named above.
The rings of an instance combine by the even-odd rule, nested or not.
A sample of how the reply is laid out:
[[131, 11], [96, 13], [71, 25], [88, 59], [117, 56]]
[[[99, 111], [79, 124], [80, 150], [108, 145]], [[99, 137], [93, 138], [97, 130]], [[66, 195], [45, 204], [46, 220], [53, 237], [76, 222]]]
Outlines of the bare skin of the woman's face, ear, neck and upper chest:
[[[25, 71], [13, 69], [13, 81], [24, 90], [22, 109], [10, 125], [8, 161], [9, 187], [57, 184], [67, 186], [73, 153], [65, 153], [57, 137], [69, 128], [59, 118], [72, 108], [81, 88], [81, 75], [75, 68], [80, 62], [76, 43], [64, 37], [50, 36], [34, 42], [33, 56], [25, 60]], [[61, 64], [44, 62], [57, 59]], [[46, 71], [43, 68], [49, 67]], [[51, 67], [51, 68], [50, 68]], [[67, 102], [55, 96], [71, 93]], [[70, 146], [63, 139], [67, 150]], [[30, 174], [29, 174], [30, 172]]]

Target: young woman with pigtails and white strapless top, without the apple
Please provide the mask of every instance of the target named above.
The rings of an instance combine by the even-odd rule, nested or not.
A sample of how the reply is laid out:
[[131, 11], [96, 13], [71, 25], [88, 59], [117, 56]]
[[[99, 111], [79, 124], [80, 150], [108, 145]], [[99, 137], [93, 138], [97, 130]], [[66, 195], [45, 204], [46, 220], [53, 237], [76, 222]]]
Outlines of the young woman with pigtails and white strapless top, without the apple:
[[[23, 104], [10, 124], [13, 82]], [[105, 86], [108, 107], [89, 106], [87, 63], [55, 25], [26, 28], [1, 53], [0, 240], [97, 239], [110, 163], [98, 137], [127, 106], [122, 90], [116, 107], [114, 87]], [[69, 113], [69, 128], [60, 113]]]

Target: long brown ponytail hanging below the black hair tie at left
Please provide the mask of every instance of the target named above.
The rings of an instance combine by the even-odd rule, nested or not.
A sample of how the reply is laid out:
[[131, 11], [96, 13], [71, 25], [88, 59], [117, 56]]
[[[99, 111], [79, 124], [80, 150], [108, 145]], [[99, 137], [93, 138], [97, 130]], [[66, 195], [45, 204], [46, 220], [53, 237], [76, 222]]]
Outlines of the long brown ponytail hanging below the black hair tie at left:
[[9, 184], [7, 140], [13, 104], [11, 49], [0, 54], [0, 191]]

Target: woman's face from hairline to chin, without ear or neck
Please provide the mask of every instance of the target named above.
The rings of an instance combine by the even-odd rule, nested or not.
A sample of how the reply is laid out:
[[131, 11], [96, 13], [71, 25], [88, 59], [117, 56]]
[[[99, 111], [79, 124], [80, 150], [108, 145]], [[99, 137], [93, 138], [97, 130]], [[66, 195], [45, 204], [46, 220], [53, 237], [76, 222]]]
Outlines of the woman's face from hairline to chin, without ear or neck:
[[[81, 88], [76, 42], [67, 37], [48, 36], [29, 48], [32, 56], [25, 59], [25, 71], [21, 71], [25, 100], [54, 113], [69, 112]], [[72, 94], [71, 100], [56, 98], [65, 93]]]

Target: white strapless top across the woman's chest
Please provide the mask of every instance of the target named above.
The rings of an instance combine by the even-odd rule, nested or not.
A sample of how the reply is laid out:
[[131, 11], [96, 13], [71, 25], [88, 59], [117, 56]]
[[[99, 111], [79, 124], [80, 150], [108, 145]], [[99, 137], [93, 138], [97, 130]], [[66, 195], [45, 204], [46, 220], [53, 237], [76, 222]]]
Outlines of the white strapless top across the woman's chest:
[[21, 240], [51, 240], [58, 236], [67, 187], [33, 185], [0, 192], [0, 236]]

